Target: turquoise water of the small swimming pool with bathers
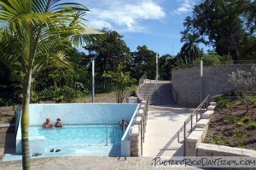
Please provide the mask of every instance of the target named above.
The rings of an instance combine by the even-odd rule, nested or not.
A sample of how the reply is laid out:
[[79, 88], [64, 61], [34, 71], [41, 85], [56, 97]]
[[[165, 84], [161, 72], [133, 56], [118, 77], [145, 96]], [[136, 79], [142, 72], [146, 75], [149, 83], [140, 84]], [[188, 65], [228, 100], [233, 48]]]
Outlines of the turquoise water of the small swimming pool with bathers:
[[[45, 155], [55, 155], [55, 150], [61, 150], [63, 155], [95, 155], [120, 156], [120, 140], [123, 132], [118, 125], [106, 124], [65, 125], [63, 128], [30, 127], [30, 137], [44, 136]], [[108, 138], [108, 143], [107, 143]], [[54, 150], [51, 152], [50, 150]]]

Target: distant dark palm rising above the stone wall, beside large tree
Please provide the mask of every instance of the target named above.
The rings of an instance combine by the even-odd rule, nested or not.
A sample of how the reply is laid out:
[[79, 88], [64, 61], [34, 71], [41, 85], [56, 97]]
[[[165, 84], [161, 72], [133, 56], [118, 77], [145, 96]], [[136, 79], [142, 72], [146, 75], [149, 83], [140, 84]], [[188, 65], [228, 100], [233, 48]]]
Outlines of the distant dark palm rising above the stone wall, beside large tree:
[[185, 42], [181, 48], [181, 52], [187, 55], [187, 60], [193, 62], [201, 55], [198, 43], [201, 42], [198, 34], [184, 33], [181, 42]]

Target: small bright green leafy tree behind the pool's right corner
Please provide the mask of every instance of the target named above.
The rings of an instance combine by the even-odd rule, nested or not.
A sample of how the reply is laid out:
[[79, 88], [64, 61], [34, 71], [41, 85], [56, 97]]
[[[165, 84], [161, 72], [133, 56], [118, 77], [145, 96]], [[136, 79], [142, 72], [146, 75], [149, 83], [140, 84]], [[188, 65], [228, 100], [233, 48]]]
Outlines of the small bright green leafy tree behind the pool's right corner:
[[131, 90], [135, 90], [136, 79], [131, 78], [130, 72], [124, 72], [123, 67], [119, 65], [117, 71], [108, 71], [102, 77], [113, 80], [113, 87], [116, 91], [116, 102], [123, 103], [125, 96]]

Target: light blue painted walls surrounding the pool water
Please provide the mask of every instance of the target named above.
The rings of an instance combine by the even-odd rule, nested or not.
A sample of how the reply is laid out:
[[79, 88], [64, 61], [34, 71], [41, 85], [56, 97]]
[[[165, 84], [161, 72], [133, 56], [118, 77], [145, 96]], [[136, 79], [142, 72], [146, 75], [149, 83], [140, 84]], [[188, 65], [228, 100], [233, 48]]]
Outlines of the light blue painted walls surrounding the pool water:
[[[55, 123], [56, 118], [67, 124], [106, 123], [116, 124], [121, 119], [130, 122], [123, 138], [121, 139], [121, 156], [130, 156], [129, 131], [134, 124], [134, 118], [138, 110], [138, 104], [31, 104], [29, 108], [30, 126], [42, 125], [46, 118]], [[44, 137], [30, 138], [30, 150], [43, 152], [39, 145], [44, 145]], [[21, 129], [20, 123], [16, 136], [16, 153], [21, 153]]]

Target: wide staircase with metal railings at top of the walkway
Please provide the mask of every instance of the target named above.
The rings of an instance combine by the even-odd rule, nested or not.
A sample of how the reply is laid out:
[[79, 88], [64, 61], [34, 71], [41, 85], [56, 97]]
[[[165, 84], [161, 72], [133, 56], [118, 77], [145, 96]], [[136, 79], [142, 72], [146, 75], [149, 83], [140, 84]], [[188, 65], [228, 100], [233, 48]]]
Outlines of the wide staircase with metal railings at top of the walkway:
[[[151, 81], [150, 81], [151, 82]], [[150, 98], [149, 105], [176, 105], [172, 97], [172, 86], [170, 82], [157, 83], [144, 83], [138, 94], [145, 99], [147, 96]]]

